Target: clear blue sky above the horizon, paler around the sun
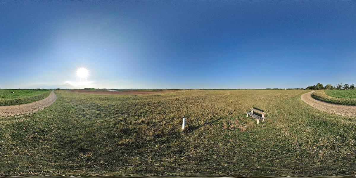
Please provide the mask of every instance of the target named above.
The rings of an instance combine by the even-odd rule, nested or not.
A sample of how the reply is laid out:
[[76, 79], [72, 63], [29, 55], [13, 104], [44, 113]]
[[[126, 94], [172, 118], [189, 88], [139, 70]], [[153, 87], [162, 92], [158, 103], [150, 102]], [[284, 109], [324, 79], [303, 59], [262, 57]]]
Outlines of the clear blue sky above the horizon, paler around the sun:
[[[86, 78], [76, 70], [85, 67]], [[356, 1], [1, 1], [0, 88], [356, 83]]]

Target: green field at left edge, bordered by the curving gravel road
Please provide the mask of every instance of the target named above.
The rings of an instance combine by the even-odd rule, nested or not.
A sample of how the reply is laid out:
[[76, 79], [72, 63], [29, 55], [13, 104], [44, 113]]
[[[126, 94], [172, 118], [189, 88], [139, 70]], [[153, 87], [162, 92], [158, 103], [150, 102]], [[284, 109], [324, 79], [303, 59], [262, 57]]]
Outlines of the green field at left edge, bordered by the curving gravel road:
[[[14, 93], [11, 93], [14, 91]], [[0, 106], [32, 103], [46, 98], [51, 90], [0, 90]]]

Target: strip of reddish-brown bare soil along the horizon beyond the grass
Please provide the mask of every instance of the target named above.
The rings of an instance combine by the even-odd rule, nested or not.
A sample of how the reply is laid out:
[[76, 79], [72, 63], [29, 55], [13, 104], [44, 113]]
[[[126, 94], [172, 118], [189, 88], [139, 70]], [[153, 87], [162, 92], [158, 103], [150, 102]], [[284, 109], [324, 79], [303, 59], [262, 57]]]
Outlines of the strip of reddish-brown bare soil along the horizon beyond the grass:
[[107, 94], [107, 95], [141, 95], [141, 94], [155, 94], [168, 93], [179, 90], [69, 90], [76, 93], [86, 94]]

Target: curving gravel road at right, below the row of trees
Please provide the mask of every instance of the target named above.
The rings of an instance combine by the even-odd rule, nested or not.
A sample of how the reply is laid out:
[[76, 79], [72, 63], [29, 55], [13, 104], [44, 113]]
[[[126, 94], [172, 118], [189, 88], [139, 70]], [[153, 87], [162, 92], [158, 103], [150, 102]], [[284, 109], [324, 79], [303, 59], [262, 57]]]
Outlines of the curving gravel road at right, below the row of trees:
[[356, 116], [356, 106], [347, 106], [347, 105], [338, 105], [338, 104], [330, 104], [323, 101], [316, 100], [312, 98], [312, 93], [314, 91], [310, 91], [308, 93], [300, 96], [305, 103], [313, 106], [316, 109], [342, 116], [355, 117]]

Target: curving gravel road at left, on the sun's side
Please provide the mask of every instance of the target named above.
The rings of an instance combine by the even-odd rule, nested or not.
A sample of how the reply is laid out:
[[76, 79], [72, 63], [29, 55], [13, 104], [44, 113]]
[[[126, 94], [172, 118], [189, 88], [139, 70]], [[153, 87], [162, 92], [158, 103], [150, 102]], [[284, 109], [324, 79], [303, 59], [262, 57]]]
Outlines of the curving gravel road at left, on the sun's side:
[[17, 116], [24, 114], [31, 114], [38, 110], [44, 109], [56, 101], [57, 95], [54, 94], [54, 90], [45, 99], [35, 101], [28, 104], [20, 104], [13, 106], [0, 106], [0, 117]]

